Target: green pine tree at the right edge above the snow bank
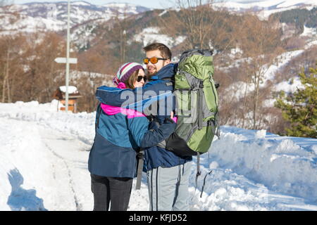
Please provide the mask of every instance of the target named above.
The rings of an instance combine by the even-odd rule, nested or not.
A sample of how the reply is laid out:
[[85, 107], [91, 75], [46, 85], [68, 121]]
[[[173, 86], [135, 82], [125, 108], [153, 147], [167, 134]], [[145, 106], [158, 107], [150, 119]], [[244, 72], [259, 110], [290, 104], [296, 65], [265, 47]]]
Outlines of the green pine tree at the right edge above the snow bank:
[[317, 67], [309, 71], [309, 75], [304, 71], [299, 74], [304, 89], [288, 95], [282, 92], [275, 102], [291, 123], [290, 129], [285, 129], [288, 136], [317, 138]]

